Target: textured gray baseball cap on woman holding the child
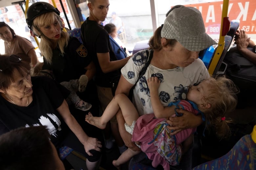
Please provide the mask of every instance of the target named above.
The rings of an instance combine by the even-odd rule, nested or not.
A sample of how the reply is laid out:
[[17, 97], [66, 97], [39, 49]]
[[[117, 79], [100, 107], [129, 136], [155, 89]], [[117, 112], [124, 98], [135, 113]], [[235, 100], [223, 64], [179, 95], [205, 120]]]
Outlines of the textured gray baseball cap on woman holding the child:
[[201, 12], [193, 7], [173, 9], [164, 21], [161, 37], [175, 39], [190, 51], [201, 51], [217, 44], [206, 34]]

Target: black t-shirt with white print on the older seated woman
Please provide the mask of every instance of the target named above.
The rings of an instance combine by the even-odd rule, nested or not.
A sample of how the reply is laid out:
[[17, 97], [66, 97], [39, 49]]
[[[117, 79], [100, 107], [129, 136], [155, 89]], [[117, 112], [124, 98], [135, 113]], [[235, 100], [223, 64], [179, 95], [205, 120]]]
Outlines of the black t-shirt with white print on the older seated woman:
[[0, 135], [18, 127], [44, 125], [56, 146], [69, 130], [56, 111], [63, 103], [64, 95], [57, 83], [48, 77], [31, 77], [31, 80], [33, 101], [27, 107], [10, 103], [0, 95]]

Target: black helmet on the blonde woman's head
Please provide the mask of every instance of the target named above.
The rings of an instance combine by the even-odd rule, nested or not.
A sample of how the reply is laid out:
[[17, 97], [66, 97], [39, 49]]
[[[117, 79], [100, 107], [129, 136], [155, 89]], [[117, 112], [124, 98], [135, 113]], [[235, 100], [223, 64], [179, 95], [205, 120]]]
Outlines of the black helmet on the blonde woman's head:
[[33, 3], [27, 10], [27, 25], [30, 29], [32, 29], [32, 23], [33, 20], [38, 17], [39, 15], [42, 15], [47, 12], [55, 12], [56, 14], [60, 14], [59, 10], [57, 8], [54, 8], [51, 4], [47, 2], [36, 2]]

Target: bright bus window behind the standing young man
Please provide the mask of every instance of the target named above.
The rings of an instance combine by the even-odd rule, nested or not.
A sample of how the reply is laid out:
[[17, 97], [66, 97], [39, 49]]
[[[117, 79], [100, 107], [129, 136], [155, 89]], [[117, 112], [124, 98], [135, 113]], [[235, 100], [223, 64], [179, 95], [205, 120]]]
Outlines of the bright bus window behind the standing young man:
[[[74, 2], [76, 3], [76, 0]], [[87, 3], [88, 1], [76, 4], [76, 7], [79, 5], [79, 10], [81, 10], [83, 18], [89, 16]], [[109, 0], [109, 3], [108, 15], [103, 25], [113, 21], [112, 13], [120, 17], [123, 30], [118, 35], [118, 38], [126, 49], [132, 51], [136, 42], [148, 40], [153, 35], [150, 1]]]

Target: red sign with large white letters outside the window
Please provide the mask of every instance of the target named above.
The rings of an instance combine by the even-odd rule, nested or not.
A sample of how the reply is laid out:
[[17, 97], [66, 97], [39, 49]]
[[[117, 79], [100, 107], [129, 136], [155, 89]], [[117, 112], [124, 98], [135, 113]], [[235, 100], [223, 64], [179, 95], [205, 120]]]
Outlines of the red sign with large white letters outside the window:
[[[223, 1], [186, 5], [201, 11], [207, 34], [219, 34]], [[256, 0], [229, 0], [229, 20], [240, 20], [240, 28], [256, 34]]]

